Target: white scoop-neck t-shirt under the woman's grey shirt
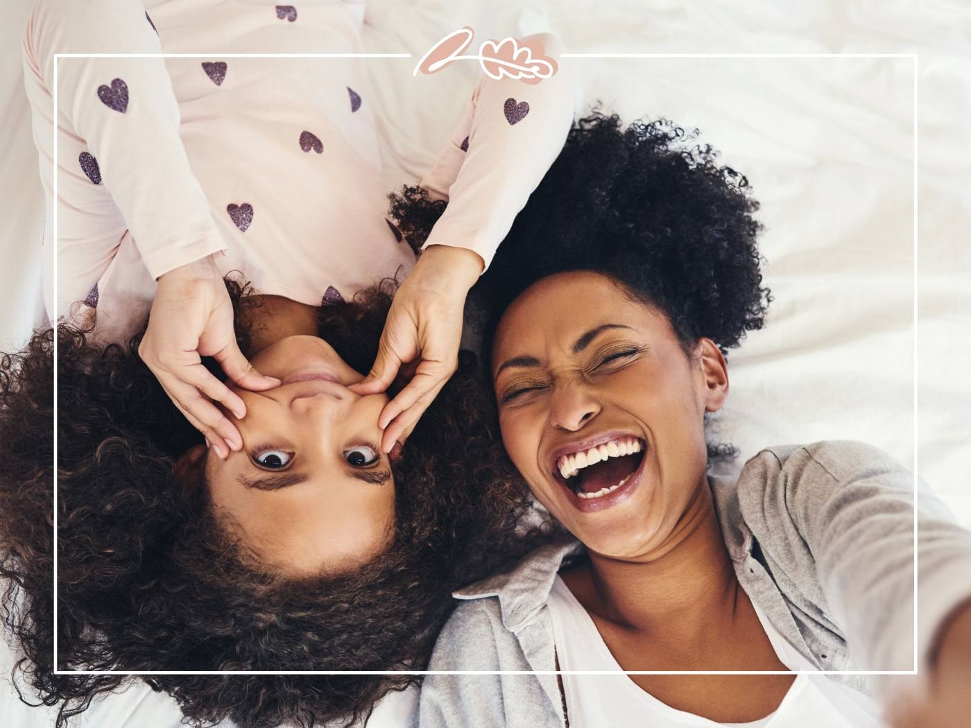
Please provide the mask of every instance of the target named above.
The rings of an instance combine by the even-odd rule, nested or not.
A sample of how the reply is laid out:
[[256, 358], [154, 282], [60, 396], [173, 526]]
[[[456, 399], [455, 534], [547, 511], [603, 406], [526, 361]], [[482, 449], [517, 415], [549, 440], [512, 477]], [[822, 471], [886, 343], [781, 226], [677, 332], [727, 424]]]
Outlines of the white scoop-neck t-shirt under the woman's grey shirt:
[[[622, 671], [566, 583], [556, 577], [547, 603], [559, 669]], [[754, 605], [753, 605], [754, 606]], [[790, 670], [816, 670], [755, 608], [776, 654]], [[735, 726], [744, 728], [880, 728], [880, 710], [870, 698], [825, 676], [796, 676], [777, 711], [751, 723], [719, 723], [678, 711], [657, 700], [625, 675], [563, 675], [570, 728], [596, 726]]]

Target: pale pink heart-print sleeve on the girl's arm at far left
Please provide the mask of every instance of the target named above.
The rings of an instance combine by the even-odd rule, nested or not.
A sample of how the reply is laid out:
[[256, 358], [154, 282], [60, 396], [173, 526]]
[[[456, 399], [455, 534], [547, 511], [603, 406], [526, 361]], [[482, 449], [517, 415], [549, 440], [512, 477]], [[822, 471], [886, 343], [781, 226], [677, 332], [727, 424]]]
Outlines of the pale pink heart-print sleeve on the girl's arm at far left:
[[54, 53], [160, 52], [141, 3], [40, 0], [24, 51], [29, 70], [56, 90], [54, 122], [84, 141], [152, 278], [226, 249], [189, 167], [162, 58], [62, 57], [54, 89]]

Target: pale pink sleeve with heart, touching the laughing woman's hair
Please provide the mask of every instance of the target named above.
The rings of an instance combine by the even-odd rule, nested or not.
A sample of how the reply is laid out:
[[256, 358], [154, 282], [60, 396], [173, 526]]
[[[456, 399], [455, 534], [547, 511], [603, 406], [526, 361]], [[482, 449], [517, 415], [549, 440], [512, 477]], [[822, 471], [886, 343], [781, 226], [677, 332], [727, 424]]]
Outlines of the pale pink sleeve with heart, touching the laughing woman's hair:
[[541, 41], [557, 72], [540, 83], [483, 73], [448, 146], [419, 182], [432, 199], [449, 201], [421, 248], [468, 248], [484, 270], [573, 123], [574, 77], [558, 62], [559, 42], [546, 33], [524, 40]]

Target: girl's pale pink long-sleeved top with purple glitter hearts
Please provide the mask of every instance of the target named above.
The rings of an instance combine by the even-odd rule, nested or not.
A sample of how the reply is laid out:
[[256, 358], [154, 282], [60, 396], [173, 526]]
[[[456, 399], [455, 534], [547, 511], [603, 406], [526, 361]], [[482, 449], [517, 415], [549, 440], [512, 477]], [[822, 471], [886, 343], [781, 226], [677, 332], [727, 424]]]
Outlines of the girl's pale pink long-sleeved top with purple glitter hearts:
[[[363, 4], [146, 5], [40, 0], [27, 24], [49, 271], [57, 255], [49, 314], [96, 308], [98, 330], [117, 341], [144, 322], [159, 276], [211, 253], [223, 274], [310, 305], [407, 273], [416, 251], [386, 218], [367, 60], [229, 55], [360, 51]], [[542, 39], [555, 57], [555, 39]], [[211, 55], [61, 57], [55, 116], [55, 52]], [[535, 84], [483, 74], [420, 181], [450, 201], [425, 246], [470, 248], [487, 266], [573, 112], [562, 67]]]

